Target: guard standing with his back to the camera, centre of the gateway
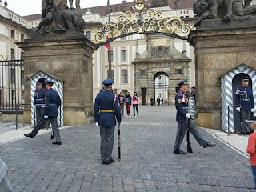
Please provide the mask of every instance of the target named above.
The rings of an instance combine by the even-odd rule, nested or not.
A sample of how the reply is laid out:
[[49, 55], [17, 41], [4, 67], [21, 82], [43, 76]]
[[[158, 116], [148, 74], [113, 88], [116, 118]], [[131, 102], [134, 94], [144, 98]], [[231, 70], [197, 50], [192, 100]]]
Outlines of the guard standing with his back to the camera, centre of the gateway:
[[114, 128], [116, 121], [121, 123], [118, 96], [112, 92], [113, 79], [104, 80], [104, 91], [97, 94], [94, 104], [94, 119], [100, 126], [102, 163], [109, 165], [114, 162], [112, 150], [114, 146]]

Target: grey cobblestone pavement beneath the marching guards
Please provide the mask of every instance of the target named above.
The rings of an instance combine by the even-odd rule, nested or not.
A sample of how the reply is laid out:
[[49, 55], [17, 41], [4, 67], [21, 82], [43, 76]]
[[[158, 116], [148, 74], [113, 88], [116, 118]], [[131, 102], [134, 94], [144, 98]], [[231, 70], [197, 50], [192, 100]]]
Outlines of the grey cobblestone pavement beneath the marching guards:
[[101, 164], [94, 125], [62, 129], [61, 146], [51, 144], [49, 132], [0, 144], [14, 191], [255, 191], [249, 159], [209, 131], [200, 130], [216, 147], [204, 149], [191, 136], [194, 153], [174, 154], [173, 106], [139, 106], [139, 112], [123, 118], [122, 161], [115, 135], [116, 161], [108, 166]]

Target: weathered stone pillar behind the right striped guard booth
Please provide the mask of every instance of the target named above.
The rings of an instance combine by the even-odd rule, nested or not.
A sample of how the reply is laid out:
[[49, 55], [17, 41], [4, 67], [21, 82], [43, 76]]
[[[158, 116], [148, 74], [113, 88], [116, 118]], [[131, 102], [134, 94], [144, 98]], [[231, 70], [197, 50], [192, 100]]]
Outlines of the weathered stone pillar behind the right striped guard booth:
[[205, 20], [190, 32], [188, 42], [195, 49], [198, 126], [219, 129], [222, 74], [242, 63], [256, 68], [255, 23]]

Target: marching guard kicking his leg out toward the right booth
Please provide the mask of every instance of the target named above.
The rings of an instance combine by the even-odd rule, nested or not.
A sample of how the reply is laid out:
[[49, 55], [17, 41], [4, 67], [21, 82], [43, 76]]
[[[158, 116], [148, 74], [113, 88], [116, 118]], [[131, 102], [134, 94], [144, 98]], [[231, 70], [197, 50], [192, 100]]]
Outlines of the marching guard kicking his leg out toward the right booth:
[[[187, 80], [182, 80], [177, 84], [180, 88], [175, 96], [175, 106], [177, 109], [176, 121], [178, 122], [178, 131], [176, 134], [176, 141], [174, 146], [174, 154], [186, 154], [186, 152], [180, 149], [182, 145], [183, 138], [186, 133], [186, 120], [187, 118], [191, 118], [191, 114], [188, 113], [188, 102], [189, 99], [186, 97], [185, 91], [188, 88]], [[216, 144], [212, 144], [206, 140], [206, 138], [198, 131], [197, 126], [194, 125], [193, 121], [190, 122], [190, 132], [193, 134], [194, 138], [198, 141], [200, 146], [204, 148], [210, 146], [216, 146]]]

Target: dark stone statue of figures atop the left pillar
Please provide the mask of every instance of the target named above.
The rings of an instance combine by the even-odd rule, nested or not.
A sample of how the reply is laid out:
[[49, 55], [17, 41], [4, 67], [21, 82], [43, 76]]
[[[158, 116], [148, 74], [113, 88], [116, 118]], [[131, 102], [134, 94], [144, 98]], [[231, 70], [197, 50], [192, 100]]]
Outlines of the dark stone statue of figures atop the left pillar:
[[54, 30], [78, 30], [83, 33], [84, 26], [80, 0], [76, 0], [76, 9], [73, 0], [70, 0], [70, 9], [67, 0], [42, 0], [42, 21], [36, 28], [39, 34]]

